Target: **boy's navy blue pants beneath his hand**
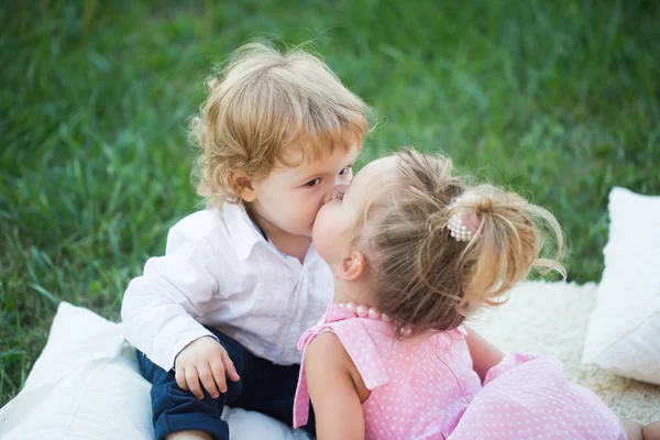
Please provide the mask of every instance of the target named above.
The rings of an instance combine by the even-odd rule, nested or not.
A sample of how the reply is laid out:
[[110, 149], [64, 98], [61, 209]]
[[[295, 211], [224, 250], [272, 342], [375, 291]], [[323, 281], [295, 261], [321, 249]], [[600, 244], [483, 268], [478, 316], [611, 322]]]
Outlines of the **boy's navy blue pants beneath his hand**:
[[[229, 439], [229, 426], [220, 419], [224, 405], [263, 413], [288, 426], [293, 424], [294, 396], [298, 383], [299, 365], [276, 365], [249, 352], [239, 342], [211, 331], [227, 350], [241, 380], [227, 378], [227, 393], [213, 399], [201, 386], [205, 398], [176, 384], [174, 370], [166, 372], [138, 352], [142, 375], [152, 383], [151, 398], [156, 439], [184, 430], [202, 430], [217, 440]], [[310, 411], [311, 413], [311, 411]], [[314, 433], [314, 415], [306, 429]]]

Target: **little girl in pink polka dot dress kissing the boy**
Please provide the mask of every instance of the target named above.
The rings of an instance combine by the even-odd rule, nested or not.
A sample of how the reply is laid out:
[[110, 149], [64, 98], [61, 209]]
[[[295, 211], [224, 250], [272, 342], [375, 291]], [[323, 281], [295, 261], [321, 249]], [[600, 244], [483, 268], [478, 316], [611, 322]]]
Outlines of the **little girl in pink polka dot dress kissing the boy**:
[[[554, 260], [540, 258], [542, 231]], [[311, 398], [319, 439], [642, 438], [552, 358], [514, 354], [476, 372], [487, 344], [465, 318], [532, 268], [563, 273], [547, 210], [408, 151], [338, 187], [312, 238], [336, 290], [299, 342], [295, 426]], [[645, 429], [651, 438], [658, 422]]]

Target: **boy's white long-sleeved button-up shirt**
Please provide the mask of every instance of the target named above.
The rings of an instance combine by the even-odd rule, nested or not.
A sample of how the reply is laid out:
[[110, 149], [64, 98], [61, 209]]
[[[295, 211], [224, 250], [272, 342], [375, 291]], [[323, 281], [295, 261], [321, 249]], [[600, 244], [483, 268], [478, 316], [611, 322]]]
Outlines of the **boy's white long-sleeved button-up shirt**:
[[127, 339], [172, 370], [190, 342], [211, 333], [235, 339], [276, 364], [300, 363], [298, 339], [332, 298], [332, 273], [314, 249], [304, 263], [257, 231], [244, 208], [227, 204], [175, 224], [164, 256], [152, 257], [124, 294]]

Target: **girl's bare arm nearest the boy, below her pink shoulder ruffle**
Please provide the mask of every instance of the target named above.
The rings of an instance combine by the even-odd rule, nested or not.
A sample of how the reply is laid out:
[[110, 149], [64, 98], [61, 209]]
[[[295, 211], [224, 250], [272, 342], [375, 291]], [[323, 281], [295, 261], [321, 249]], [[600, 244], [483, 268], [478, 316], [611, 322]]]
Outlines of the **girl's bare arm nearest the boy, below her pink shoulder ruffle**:
[[362, 400], [354, 381], [358, 370], [339, 338], [319, 334], [307, 346], [304, 362], [317, 439], [364, 439]]

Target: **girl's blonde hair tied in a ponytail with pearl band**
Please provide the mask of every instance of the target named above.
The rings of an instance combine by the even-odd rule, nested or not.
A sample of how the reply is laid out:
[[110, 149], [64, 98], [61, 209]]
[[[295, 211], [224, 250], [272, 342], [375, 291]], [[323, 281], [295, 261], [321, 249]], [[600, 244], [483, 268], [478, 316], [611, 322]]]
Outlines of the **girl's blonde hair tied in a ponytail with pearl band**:
[[[451, 160], [408, 150], [396, 154], [399, 180], [365, 206], [353, 245], [369, 261], [375, 306], [416, 332], [449, 330], [498, 298], [532, 268], [564, 275], [562, 233], [546, 209], [491, 185], [470, 186]], [[461, 197], [452, 207], [452, 202]], [[468, 242], [448, 230], [452, 215], [473, 210]], [[549, 232], [549, 234], [548, 234]], [[540, 257], [547, 235], [556, 255]]]

